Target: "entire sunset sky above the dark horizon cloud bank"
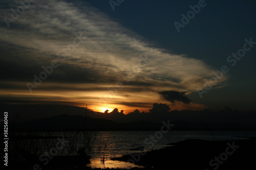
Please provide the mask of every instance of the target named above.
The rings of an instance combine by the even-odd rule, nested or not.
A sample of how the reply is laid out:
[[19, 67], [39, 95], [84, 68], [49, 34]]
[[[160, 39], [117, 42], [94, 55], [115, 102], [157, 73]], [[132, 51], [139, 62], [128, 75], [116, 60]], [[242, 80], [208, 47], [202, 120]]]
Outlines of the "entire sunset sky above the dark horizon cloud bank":
[[255, 111], [255, 8], [242, 0], [1, 1], [0, 102]]

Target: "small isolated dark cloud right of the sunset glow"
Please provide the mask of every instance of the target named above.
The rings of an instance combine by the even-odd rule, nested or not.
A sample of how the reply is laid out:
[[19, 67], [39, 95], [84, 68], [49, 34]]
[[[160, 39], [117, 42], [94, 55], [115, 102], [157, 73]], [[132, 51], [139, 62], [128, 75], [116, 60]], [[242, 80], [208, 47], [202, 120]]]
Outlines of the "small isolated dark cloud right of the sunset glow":
[[184, 94], [186, 92], [180, 92], [180, 91], [160, 91], [158, 92], [159, 94], [161, 94], [161, 96], [171, 102], [174, 103], [175, 101], [179, 101], [182, 102], [184, 104], [189, 104], [191, 102], [191, 100], [189, 100], [187, 98], [187, 96], [185, 96]]

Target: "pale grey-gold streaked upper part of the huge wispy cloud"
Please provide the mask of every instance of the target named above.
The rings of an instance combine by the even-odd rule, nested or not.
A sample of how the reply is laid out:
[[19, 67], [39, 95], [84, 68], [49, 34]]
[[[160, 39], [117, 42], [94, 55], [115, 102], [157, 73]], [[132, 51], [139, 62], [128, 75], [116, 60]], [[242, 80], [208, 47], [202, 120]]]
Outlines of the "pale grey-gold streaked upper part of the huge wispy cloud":
[[[187, 58], [185, 55], [164, 53], [92, 7], [38, 1], [15, 22], [18, 24], [15, 29], [0, 29], [3, 33], [0, 39], [11, 44], [13, 48], [27, 49], [19, 55], [30, 59], [33, 64], [36, 62], [37, 67], [56, 59], [59, 51], [72, 45], [75, 34], [81, 33], [82, 37], [86, 37], [74, 51], [65, 55], [61, 53], [66, 60], [60, 63], [63, 68], [58, 68], [55, 72], [66, 76], [58, 76], [55, 81], [77, 79], [87, 82], [92, 78], [88, 78], [89, 74], [86, 72], [95, 75], [98, 80], [102, 79], [101, 81], [110, 82], [113, 75], [116, 79], [126, 81], [128, 78], [124, 75], [132, 74], [135, 75], [132, 79], [135, 82], [142, 79], [148, 80], [154, 86], [171, 85], [196, 91], [198, 86], [203, 85], [205, 78], [212, 76], [211, 70], [202, 61]], [[24, 29], [17, 31], [22, 27]], [[47, 57], [42, 58], [39, 55], [42, 50], [44, 53], [48, 52]], [[144, 54], [147, 54], [151, 62], [138, 72], [131, 71], [138, 65], [139, 56]], [[32, 68], [30, 71], [32, 70], [36, 69]]]

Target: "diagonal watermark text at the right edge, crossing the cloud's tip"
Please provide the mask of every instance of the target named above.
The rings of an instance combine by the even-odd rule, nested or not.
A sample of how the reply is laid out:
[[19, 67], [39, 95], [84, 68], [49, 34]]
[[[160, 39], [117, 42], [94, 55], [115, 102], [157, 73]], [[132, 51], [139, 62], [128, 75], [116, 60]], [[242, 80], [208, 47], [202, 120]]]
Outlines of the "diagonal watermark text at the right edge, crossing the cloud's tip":
[[[246, 52], [251, 50], [254, 44], [256, 44], [256, 42], [252, 41], [252, 38], [250, 38], [250, 40], [246, 38], [244, 39], [244, 41], [245, 43], [243, 45], [243, 48], [240, 48], [237, 53], [232, 53], [232, 55], [227, 57], [227, 62], [230, 63], [232, 67], [237, 64], [237, 61], [240, 61], [241, 58], [245, 56]], [[224, 74], [226, 74], [228, 71], [229, 68], [226, 65], [222, 65], [219, 71], [212, 71], [212, 74], [214, 74], [214, 76], [210, 77], [210, 79], [207, 81], [204, 79], [205, 83], [203, 85], [203, 89], [197, 89], [200, 98], [202, 99], [203, 93], [207, 93], [210, 89], [212, 89], [212, 86], [216, 85], [218, 81], [220, 81], [224, 77]]]

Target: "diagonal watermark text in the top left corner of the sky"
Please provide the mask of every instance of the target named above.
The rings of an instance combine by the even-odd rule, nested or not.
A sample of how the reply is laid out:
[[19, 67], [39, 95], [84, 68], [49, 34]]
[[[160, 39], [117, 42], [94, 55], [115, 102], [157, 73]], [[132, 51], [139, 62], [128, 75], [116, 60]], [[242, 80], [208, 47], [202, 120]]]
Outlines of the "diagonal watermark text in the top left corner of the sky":
[[10, 22], [15, 22], [15, 20], [17, 20], [19, 18], [19, 16], [21, 14], [24, 13], [24, 11], [26, 9], [28, 9], [30, 7], [30, 3], [34, 3], [35, 0], [20, 0], [19, 3], [20, 3], [20, 6], [17, 7], [17, 9], [11, 9], [11, 18], [5, 16], [4, 17], [4, 20], [5, 20], [5, 23], [7, 25], [7, 27], [10, 27]]

